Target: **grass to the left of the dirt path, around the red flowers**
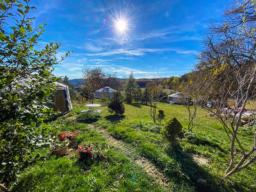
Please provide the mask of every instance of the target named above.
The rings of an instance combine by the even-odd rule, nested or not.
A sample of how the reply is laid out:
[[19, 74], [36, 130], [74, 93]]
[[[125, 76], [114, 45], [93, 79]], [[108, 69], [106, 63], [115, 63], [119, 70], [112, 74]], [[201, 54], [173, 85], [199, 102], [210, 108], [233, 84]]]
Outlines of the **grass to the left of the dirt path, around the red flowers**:
[[[58, 157], [49, 154], [49, 149], [39, 150], [47, 160], [29, 166], [12, 184], [12, 191], [164, 191], [152, 177], [88, 125], [74, 120], [59, 119], [60, 131], [77, 131], [79, 143], [90, 142], [102, 148], [101, 156], [90, 164], [84, 164], [75, 156], [76, 151]], [[124, 174], [124, 175], [123, 175]]]

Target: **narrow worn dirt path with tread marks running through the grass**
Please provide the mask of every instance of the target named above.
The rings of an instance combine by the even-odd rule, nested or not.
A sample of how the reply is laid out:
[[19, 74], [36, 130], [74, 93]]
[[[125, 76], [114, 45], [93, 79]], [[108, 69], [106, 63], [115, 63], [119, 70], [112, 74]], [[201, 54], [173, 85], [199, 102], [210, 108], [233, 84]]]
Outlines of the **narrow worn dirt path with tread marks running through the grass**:
[[157, 182], [159, 182], [159, 184], [168, 188], [169, 179], [164, 177], [163, 173], [161, 173], [154, 164], [152, 164], [150, 161], [148, 161], [148, 159], [144, 157], [139, 156], [134, 158], [136, 148], [125, 144], [123, 141], [116, 140], [115, 138], [110, 136], [105, 129], [99, 129], [98, 127], [95, 127], [91, 124], [89, 126], [92, 127], [92, 129], [94, 129], [95, 131], [100, 132], [100, 134], [102, 134], [106, 138], [106, 140], [111, 143], [111, 145], [120, 148], [122, 154], [130, 157], [130, 159], [132, 159], [136, 164], [141, 166], [143, 170], [145, 170], [149, 175], [152, 175], [152, 177], [154, 177]]

